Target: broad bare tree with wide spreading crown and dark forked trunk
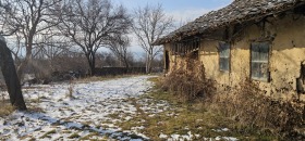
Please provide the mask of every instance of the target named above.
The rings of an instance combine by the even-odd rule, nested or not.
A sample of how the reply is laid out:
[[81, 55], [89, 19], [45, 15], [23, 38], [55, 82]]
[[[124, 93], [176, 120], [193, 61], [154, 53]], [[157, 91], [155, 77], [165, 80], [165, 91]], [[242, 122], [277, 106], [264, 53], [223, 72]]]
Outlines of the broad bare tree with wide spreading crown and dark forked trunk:
[[56, 12], [59, 30], [82, 49], [90, 75], [95, 75], [97, 50], [126, 34], [131, 25], [126, 10], [114, 8], [109, 0], [68, 0]]

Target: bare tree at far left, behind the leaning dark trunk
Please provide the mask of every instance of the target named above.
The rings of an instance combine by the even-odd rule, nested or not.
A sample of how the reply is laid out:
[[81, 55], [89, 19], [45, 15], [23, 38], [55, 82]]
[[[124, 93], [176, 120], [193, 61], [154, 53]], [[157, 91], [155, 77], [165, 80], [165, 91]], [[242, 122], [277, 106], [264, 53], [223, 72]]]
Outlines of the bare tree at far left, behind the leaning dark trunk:
[[19, 36], [23, 38], [23, 47], [25, 47], [25, 57], [17, 66], [20, 78], [22, 78], [24, 68], [30, 63], [34, 46], [39, 43], [34, 42], [36, 36], [57, 24], [53, 18], [50, 18], [49, 10], [59, 1], [61, 0], [1, 1], [1, 27], [5, 33], [19, 33]]

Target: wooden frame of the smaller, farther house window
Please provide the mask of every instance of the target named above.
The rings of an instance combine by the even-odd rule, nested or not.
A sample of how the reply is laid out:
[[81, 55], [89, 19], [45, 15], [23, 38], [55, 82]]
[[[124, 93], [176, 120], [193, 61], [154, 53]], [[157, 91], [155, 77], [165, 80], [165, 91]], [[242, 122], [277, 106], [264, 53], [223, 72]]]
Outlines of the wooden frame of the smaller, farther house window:
[[[225, 49], [223, 50], [223, 47], [225, 47]], [[227, 48], [228, 47], [228, 48]], [[228, 50], [228, 54], [222, 55], [222, 51]], [[222, 61], [227, 60], [225, 62], [228, 63], [228, 68], [222, 67]], [[224, 73], [230, 73], [231, 70], [231, 44], [228, 42], [219, 42], [219, 70], [220, 72], [224, 72]]]

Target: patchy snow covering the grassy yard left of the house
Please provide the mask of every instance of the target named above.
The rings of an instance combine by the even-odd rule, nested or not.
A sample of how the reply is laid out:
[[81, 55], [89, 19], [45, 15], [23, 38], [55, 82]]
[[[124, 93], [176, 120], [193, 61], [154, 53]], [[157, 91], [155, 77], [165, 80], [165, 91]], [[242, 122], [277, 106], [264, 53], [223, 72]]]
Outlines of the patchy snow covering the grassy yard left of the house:
[[[117, 121], [131, 120], [136, 107], [129, 99], [145, 94], [152, 87], [147, 79], [151, 76], [119, 78], [87, 84], [61, 84], [35, 86], [24, 90], [29, 107], [42, 112], [14, 112], [0, 117], [0, 140], [149, 140], [141, 133], [145, 127], [122, 130]], [[69, 97], [72, 93], [72, 97]], [[145, 104], [143, 111], [151, 116], [169, 108], [166, 101], [151, 105]], [[124, 118], [113, 118], [123, 113]], [[160, 132], [160, 139], [180, 140], [180, 134]], [[220, 138], [224, 139], [224, 138]], [[216, 139], [217, 140], [217, 139]], [[230, 138], [228, 140], [235, 140]]]

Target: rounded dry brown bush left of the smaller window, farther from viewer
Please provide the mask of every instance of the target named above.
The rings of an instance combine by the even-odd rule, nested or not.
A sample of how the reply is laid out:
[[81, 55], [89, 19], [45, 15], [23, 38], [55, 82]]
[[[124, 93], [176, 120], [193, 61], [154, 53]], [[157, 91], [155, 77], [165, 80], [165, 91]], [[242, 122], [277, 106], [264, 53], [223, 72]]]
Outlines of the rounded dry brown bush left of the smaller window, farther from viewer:
[[210, 99], [216, 91], [215, 81], [206, 78], [205, 67], [199, 61], [192, 57], [185, 60], [166, 77], [163, 88], [186, 101]]

